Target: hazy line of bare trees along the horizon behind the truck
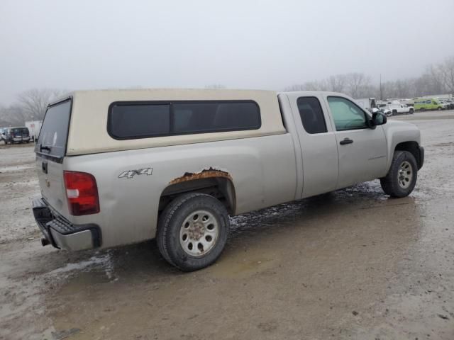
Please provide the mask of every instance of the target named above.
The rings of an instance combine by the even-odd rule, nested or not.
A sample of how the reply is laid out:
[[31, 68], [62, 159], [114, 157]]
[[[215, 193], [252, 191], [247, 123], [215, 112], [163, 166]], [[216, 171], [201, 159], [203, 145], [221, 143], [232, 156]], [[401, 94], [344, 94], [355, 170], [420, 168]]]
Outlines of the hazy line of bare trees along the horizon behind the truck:
[[[207, 89], [225, 89], [221, 84], [211, 84]], [[337, 74], [326, 79], [306, 81], [287, 86], [285, 91], [334, 91], [353, 98], [416, 98], [436, 94], [454, 94], [454, 56], [426, 68], [416, 78], [385, 81], [373, 84], [372, 78], [363, 73]], [[27, 120], [42, 120], [49, 102], [65, 91], [56, 89], [31, 89], [17, 96], [10, 106], [0, 104], [0, 128], [21, 126]]]

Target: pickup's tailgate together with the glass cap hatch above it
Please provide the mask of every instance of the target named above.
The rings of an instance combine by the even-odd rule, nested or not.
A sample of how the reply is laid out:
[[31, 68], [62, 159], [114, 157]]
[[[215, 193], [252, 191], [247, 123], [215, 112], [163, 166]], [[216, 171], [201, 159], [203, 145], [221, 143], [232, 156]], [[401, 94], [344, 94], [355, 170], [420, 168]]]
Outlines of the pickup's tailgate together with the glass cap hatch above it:
[[65, 217], [68, 217], [69, 213], [63, 181], [63, 159], [66, 153], [71, 106], [71, 99], [67, 99], [48, 108], [35, 145], [41, 194], [52, 208]]

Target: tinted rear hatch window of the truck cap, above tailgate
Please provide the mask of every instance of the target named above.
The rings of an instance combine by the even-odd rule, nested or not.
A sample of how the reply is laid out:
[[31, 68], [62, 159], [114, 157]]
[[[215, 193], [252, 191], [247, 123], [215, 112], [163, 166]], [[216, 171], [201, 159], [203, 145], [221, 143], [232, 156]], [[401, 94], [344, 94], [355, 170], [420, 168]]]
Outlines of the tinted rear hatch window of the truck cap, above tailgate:
[[65, 156], [68, 126], [70, 124], [71, 100], [62, 101], [48, 108], [40, 130], [35, 152], [53, 157]]

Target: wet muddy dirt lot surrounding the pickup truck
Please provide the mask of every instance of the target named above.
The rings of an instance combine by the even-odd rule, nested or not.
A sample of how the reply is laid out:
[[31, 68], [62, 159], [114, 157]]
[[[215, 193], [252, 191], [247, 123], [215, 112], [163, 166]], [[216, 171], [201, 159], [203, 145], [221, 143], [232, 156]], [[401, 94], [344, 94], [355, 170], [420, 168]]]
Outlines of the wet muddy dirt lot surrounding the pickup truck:
[[0, 142], [0, 339], [454, 339], [454, 111], [394, 119], [426, 147], [411, 196], [372, 181], [235, 217], [195, 273], [155, 242], [42, 247], [33, 149]]

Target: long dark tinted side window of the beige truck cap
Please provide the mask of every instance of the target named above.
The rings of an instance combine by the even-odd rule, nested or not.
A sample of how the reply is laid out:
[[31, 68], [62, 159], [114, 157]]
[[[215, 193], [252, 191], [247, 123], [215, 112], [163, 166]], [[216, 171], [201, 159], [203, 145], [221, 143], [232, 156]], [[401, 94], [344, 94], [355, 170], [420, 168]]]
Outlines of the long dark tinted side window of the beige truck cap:
[[254, 130], [261, 126], [254, 101], [119, 102], [109, 108], [107, 130], [118, 140]]

